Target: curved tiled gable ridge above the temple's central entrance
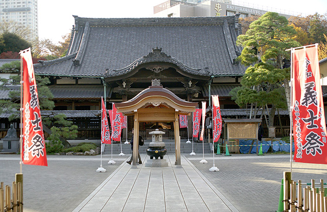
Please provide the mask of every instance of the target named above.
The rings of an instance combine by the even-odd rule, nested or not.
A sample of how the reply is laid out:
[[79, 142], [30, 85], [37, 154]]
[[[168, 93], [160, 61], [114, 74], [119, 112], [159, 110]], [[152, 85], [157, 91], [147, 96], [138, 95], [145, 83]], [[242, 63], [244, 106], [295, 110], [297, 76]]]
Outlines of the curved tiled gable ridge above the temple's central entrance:
[[[171, 57], [170, 55], [167, 55], [164, 52], [161, 52], [162, 48], [153, 48], [152, 52], [150, 52], [148, 55], [143, 56], [141, 58], [136, 59], [134, 62], [129, 64], [128, 66], [118, 69], [118, 70], [107, 70], [105, 73], [105, 77], [110, 76], [117, 76], [117, 75], [125, 75], [129, 72], [131, 72], [134, 68], [136, 68], [138, 65], [149, 63], [149, 62], [168, 62], [177, 65], [181, 70], [183, 70], [186, 73], [190, 73], [193, 75], [198, 76], [209, 76], [208, 68], [191, 68], [183, 63], [179, 62], [177, 59]], [[200, 70], [203, 70], [204, 72], [200, 72]]]

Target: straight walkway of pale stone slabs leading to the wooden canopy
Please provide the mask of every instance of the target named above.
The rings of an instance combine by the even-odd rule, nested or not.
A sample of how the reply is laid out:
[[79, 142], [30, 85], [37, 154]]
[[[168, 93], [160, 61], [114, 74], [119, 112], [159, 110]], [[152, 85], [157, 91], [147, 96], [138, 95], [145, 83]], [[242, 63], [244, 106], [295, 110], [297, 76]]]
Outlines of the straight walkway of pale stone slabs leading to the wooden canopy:
[[[145, 162], [149, 156], [143, 155]], [[182, 158], [182, 169], [167, 155], [168, 167], [138, 169], [123, 164], [75, 210], [81, 211], [238, 211]]]

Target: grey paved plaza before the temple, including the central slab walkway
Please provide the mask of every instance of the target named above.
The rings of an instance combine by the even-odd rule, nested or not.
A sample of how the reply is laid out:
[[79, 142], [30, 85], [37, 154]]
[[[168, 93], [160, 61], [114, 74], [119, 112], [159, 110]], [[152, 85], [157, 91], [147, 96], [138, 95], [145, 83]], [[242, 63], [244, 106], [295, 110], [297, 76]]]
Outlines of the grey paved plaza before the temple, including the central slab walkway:
[[[169, 167], [130, 169], [129, 155], [114, 156], [98, 173], [98, 156], [48, 155], [48, 167], [23, 166], [24, 211], [275, 211], [289, 155], [215, 155], [219, 172], [200, 163], [202, 154], [183, 154], [182, 169], [175, 155]], [[149, 157], [142, 154], [143, 161]], [[292, 163], [293, 180], [326, 179], [327, 165]], [[0, 154], [0, 181], [10, 185], [19, 173], [19, 156]]]

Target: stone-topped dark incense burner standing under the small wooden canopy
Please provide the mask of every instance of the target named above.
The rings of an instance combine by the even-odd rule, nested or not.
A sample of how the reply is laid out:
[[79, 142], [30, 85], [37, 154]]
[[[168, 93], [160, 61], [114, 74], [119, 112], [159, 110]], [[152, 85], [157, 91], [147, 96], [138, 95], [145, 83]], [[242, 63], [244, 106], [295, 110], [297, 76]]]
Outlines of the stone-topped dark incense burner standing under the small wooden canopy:
[[145, 166], [168, 167], [168, 162], [166, 159], [164, 159], [167, 149], [165, 149], [165, 143], [162, 142], [162, 135], [165, 134], [165, 132], [156, 129], [155, 131], [149, 132], [149, 134], [152, 138], [149, 144], [149, 149], [147, 149], [147, 154], [150, 156], [150, 160], [146, 162]]

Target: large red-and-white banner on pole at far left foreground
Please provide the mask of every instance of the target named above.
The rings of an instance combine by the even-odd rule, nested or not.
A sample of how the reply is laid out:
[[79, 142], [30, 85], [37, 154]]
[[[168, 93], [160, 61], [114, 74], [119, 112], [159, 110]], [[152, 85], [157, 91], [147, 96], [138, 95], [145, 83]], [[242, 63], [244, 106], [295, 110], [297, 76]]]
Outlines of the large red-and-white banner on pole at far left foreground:
[[48, 166], [31, 48], [20, 53], [23, 69], [21, 157], [24, 164]]

